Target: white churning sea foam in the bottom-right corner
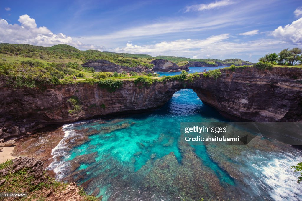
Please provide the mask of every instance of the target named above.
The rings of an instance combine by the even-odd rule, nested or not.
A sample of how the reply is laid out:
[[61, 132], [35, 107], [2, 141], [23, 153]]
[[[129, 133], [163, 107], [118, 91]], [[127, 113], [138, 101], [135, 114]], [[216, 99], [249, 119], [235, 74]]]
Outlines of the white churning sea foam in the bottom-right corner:
[[297, 184], [299, 173], [294, 173], [292, 165], [302, 161], [301, 153], [248, 153], [244, 156], [242, 172], [246, 173], [246, 183], [253, 192], [251, 197], [272, 200], [302, 200], [302, 185]]

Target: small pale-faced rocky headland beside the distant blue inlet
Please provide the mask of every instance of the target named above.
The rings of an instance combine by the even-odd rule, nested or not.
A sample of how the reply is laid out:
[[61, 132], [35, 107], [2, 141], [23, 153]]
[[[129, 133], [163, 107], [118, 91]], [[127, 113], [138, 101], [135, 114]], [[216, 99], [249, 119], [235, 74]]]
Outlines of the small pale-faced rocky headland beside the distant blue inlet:
[[172, 71], [188, 71], [189, 68], [187, 66], [178, 66], [172, 61], [168, 61], [165, 59], [155, 59], [150, 62], [154, 65], [153, 71], [161, 71], [161, 72], [172, 72]]

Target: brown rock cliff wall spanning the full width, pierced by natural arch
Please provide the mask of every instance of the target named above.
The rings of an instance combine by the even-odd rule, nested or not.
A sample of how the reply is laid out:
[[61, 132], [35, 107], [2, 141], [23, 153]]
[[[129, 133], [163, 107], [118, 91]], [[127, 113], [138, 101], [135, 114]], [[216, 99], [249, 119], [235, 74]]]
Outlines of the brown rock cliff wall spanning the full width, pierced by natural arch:
[[[49, 124], [63, 124], [120, 112], [131, 113], [163, 105], [186, 88], [221, 114], [244, 121], [302, 122], [302, 69], [222, 69], [217, 80], [200, 77], [192, 83], [154, 82], [137, 86], [123, 81], [114, 92], [85, 83], [46, 88], [0, 87], [0, 136], [17, 137]], [[76, 113], [70, 99], [79, 100]]]

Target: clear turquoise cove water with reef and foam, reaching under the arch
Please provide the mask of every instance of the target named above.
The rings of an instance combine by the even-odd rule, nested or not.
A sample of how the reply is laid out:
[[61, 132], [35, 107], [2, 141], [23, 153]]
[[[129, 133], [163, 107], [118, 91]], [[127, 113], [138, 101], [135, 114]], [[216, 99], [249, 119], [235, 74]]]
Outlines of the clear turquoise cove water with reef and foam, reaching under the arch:
[[[181, 122], [228, 121], [193, 90], [180, 90], [152, 112], [65, 125], [50, 169], [61, 181], [84, 181], [86, 192], [103, 200], [238, 199], [238, 194], [246, 200], [302, 199], [290, 169], [302, 160], [300, 151], [234, 146], [209, 154], [206, 146], [179, 139]], [[232, 171], [243, 174], [232, 178]]]

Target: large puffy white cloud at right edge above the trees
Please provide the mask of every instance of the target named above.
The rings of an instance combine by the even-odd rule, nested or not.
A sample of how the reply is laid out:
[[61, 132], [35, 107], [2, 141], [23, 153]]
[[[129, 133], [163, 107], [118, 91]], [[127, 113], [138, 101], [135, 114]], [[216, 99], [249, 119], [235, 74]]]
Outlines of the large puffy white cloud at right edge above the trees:
[[299, 20], [278, 27], [272, 32], [275, 38], [281, 39], [294, 45], [302, 45], [302, 17]]

